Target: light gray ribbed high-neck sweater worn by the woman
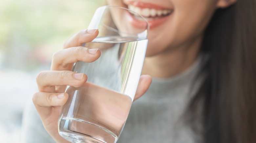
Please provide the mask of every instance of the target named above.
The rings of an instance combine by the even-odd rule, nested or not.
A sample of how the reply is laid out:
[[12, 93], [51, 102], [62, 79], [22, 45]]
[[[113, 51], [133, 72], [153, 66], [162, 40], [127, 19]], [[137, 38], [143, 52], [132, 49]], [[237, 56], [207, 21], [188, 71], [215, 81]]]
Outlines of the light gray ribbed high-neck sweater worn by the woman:
[[[199, 87], [194, 83], [201, 58], [186, 71], [169, 79], [153, 78], [148, 91], [132, 104], [117, 143], [195, 143], [193, 132], [182, 118], [187, 104]], [[191, 85], [194, 85], [191, 90]], [[56, 125], [57, 126], [57, 125]], [[54, 142], [45, 131], [32, 102], [24, 111], [24, 143]]]

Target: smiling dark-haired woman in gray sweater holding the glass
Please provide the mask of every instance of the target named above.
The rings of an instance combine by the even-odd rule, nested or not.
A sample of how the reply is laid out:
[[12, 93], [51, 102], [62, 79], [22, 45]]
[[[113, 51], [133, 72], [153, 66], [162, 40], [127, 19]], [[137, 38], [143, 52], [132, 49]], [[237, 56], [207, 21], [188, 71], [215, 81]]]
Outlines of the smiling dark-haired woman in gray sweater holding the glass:
[[[107, 2], [139, 8], [151, 17], [142, 70], [147, 75], [140, 78], [136, 99], [148, 90], [133, 104], [118, 142], [256, 142], [255, 0]], [[160, 10], [160, 16], [142, 12], [144, 8]], [[95, 61], [100, 55], [79, 46], [97, 33], [90, 29], [75, 34], [54, 54], [52, 71], [38, 74], [33, 102], [56, 142], [66, 142], [57, 131], [59, 106], [68, 98], [65, 85], [86, 82], [85, 74], [70, 71], [73, 63]], [[30, 135], [36, 139], [39, 133]]]

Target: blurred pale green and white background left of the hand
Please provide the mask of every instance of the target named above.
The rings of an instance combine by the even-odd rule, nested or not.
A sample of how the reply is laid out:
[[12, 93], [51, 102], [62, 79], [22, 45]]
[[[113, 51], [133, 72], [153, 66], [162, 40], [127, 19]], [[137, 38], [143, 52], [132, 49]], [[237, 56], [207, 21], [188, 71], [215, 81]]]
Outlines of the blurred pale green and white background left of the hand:
[[20, 142], [22, 112], [38, 72], [55, 51], [86, 29], [104, 0], [0, 0], [0, 142]]

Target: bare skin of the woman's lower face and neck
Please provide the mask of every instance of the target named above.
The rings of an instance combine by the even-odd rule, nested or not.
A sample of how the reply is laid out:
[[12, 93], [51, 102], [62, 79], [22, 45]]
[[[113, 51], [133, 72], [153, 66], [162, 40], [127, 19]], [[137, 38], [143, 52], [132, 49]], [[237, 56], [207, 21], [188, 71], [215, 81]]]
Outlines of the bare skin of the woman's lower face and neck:
[[[131, 0], [107, 0], [109, 5], [126, 7]], [[140, 0], [174, 9], [168, 20], [148, 33], [143, 74], [166, 78], [186, 70], [198, 56], [203, 30], [216, 8], [235, 0]], [[163, 30], [164, 29], [164, 30]]]

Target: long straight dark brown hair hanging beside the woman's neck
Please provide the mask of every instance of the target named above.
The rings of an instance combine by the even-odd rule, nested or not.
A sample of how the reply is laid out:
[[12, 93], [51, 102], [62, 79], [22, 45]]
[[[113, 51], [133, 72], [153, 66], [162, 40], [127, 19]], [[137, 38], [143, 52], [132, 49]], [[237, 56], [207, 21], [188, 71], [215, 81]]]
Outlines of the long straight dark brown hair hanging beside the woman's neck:
[[217, 9], [201, 52], [209, 56], [206, 79], [189, 105], [190, 122], [203, 119], [205, 143], [256, 143], [256, 1]]

